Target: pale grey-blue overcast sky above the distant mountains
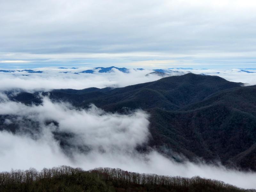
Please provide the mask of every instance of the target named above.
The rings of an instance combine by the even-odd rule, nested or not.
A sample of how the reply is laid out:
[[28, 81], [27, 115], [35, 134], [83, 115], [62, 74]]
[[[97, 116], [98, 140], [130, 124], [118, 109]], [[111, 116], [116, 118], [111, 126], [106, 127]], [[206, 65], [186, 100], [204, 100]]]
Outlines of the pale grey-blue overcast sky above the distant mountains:
[[0, 0], [0, 68], [256, 68], [252, 0]]

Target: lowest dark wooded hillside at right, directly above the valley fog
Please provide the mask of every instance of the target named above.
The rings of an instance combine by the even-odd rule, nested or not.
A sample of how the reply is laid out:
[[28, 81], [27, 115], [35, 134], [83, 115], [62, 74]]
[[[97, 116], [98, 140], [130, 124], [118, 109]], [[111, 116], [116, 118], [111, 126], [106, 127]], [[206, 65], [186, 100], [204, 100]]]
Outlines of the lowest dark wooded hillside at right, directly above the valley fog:
[[[165, 146], [190, 159], [202, 157], [207, 161], [220, 160], [230, 164], [236, 155], [256, 142], [256, 117], [225, 105], [183, 112], [161, 109], [150, 112], [151, 146], [157, 146], [159, 150]], [[255, 154], [255, 150], [252, 152]], [[256, 170], [255, 157], [244, 160], [251, 162], [250, 166], [235, 162], [240, 167]]]

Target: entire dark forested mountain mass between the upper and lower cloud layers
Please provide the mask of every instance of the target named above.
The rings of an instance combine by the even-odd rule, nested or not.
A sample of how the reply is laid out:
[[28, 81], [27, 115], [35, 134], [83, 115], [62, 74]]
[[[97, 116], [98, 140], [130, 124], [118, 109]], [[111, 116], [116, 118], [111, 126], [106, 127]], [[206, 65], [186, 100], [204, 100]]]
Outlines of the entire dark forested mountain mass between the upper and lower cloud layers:
[[[123, 88], [60, 89], [43, 95], [79, 108], [94, 103], [109, 112], [146, 110], [152, 137], [147, 145], [138, 147], [141, 152], [156, 148], [176, 161], [181, 159], [175, 154], [182, 154], [192, 161], [217, 160], [256, 171], [256, 86], [242, 85], [218, 76], [188, 73]], [[38, 94], [21, 92], [10, 98], [39, 104]], [[15, 132], [18, 125], [4, 125], [1, 119], [5, 117], [0, 118], [1, 130]], [[62, 145], [68, 145], [65, 137], [57, 137]]]

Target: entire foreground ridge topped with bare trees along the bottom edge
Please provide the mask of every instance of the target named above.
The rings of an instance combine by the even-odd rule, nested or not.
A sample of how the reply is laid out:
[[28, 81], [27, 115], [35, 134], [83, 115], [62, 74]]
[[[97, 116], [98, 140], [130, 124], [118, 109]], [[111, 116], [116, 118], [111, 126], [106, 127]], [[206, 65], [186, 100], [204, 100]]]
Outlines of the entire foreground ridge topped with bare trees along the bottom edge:
[[156, 174], [140, 174], [113, 168], [96, 168], [84, 171], [82, 168], [59, 166], [37, 171], [15, 170], [0, 173], [0, 191], [234, 191], [256, 192], [254, 189], [241, 189], [222, 181], [171, 177]]

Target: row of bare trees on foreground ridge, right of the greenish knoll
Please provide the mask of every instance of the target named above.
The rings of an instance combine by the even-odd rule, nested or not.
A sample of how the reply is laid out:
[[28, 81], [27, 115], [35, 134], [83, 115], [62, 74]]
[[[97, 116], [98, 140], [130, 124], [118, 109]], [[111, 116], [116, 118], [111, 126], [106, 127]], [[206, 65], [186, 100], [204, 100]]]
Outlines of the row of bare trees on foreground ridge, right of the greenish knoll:
[[[150, 185], [150, 186], [165, 186], [168, 189], [172, 188], [194, 188], [195, 186], [212, 186], [214, 188], [226, 189], [229, 191], [240, 191], [240, 188], [236, 186], [224, 183], [219, 180], [204, 179], [199, 176], [192, 178], [185, 178], [180, 176], [164, 176], [157, 174], [145, 174], [128, 172], [122, 169], [113, 168], [97, 168], [92, 170], [92, 172], [98, 173], [104, 180], [116, 180], [120, 182], [126, 182], [128, 184], [134, 185]], [[256, 192], [254, 189], [247, 189], [245, 191]]]

